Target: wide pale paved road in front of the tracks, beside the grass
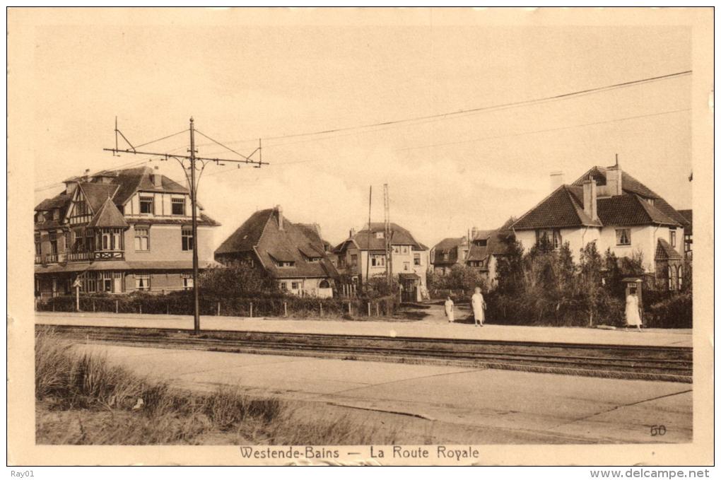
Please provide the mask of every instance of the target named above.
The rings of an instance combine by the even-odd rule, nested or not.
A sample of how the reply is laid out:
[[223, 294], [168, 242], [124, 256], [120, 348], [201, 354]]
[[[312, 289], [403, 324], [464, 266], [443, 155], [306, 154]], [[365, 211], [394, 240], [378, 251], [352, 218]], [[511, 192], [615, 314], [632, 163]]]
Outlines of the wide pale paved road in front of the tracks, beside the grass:
[[[448, 443], [691, 441], [691, 386], [681, 383], [115, 345], [80, 347], [105, 352], [113, 362], [186, 388], [241, 385], [251, 394], [353, 411], [394, 412], [446, 432]], [[666, 435], [651, 437], [651, 425], [658, 424], [665, 425]]]

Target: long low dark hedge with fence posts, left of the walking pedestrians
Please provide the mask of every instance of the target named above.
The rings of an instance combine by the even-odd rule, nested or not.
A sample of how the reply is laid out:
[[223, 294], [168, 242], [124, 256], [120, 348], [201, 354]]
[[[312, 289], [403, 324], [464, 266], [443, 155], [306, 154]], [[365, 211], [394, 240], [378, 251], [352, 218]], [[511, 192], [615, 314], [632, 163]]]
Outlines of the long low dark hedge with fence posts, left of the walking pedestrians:
[[[75, 311], [74, 295], [64, 295], [38, 302], [38, 311]], [[200, 314], [221, 316], [292, 316], [297, 318], [319, 316], [391, 316], [396, 298], [315, 298], [293, 295], [258, 295], [255, 297], [223, 297], [200, 295]], [[128, 295], [80, 295], [80, 310], [120, 314], [172, 314], [193, 315], [193, 292], [173, 292], [165, 295], [131, 293]], [[350, 304], [350, 312], [348, 306]], [[252, 312], [251, 312], [252, 308]]]

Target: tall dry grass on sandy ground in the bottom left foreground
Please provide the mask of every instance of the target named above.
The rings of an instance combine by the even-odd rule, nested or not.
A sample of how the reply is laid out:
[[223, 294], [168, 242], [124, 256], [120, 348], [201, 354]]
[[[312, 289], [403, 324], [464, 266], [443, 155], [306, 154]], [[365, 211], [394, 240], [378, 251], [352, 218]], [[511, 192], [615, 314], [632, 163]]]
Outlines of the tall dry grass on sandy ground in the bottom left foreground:
[[35, 399], [39, 444], [358, 445], [397, 436], [344, 416], [310, 419], [241, 388], [180, 391], [77, 352], [51, 331], [35, 337]]

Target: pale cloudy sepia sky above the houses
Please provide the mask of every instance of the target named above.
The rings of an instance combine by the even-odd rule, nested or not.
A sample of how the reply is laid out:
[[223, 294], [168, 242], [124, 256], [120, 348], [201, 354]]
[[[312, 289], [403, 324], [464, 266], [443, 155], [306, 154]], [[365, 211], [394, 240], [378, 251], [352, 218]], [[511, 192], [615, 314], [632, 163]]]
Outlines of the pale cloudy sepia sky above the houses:
[[[323, 12], [316, 12], [322, 16]], [[58, 12], [61, 15], [62, 12]], [[692, 75], [501, 110], [291, 136], [522, 102], [691, 70], [686, 27], [254, 25], [52, 22], [35, 27], [35, 200], [84, 172], [174, 161], [112, 156], [118, 126], [135, 145], [195, 127], [261, 169], [207, 167], [198, 190], [222, 223], [216, 245], [255, 210], [283, 205], [333, 244], [391, 220], [429, 246], [472, 226], [496, 228], [550, 193], [614, 164], [691, 208]], [[12, 43], [12, 29], [10, 31]], [[11, 63], [12, 74], [12, 63]], [[12, 121], [12, 119], [11, 119]], [[143, 147], [185, 152], [188, 134]], [[199, 155], [239, 158], [196, 135]], [[122, 143], [121, 143], [122, 144]], [[257, 157], [256, 157], [257, 158]], [[48, 188], [49, 187], [49, 188]]]

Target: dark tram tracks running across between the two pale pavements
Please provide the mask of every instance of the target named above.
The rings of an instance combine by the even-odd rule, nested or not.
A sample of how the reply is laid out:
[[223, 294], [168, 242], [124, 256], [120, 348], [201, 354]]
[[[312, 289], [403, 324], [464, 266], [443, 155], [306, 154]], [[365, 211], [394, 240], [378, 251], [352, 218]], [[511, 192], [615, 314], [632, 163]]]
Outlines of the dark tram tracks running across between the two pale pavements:
[[202, 332], [193, 336], [177, 329], [37, 326], [37, 329], [43, 328], [86, 342], [216, 352], [468, 365], [686, 383], [692, 381], [693, 373], [689, 347], [235, 331]]

